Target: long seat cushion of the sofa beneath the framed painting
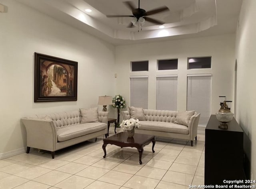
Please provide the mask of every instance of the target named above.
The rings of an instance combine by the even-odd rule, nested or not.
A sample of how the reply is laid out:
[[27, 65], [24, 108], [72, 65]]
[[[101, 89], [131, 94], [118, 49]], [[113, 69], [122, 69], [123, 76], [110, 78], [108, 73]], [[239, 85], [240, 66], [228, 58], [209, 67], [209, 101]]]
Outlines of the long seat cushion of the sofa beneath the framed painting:
[[91, 134], [107, 128], [106, 123], [90, 122], [84, 124], [77, 124], [69, 127], [60, 128], [57, 130], [58, 142]]

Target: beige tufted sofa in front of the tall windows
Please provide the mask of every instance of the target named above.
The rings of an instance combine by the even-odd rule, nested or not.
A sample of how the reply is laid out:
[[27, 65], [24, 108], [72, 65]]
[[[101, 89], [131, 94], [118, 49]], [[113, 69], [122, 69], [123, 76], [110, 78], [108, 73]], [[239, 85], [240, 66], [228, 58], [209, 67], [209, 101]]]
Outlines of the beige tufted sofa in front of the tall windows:
[[[140, 127], [135, 133], [150, 134], [159, 137], [178, 138], [191, 141], [197, 136], [200, 114], [194, 112], [188, 121], [188, 126], [176, 124], [177, 111], [143, 109], [145, 120], [140, 120]], [[130, 111], [121, 112], [124, 120], [130, 119]]]

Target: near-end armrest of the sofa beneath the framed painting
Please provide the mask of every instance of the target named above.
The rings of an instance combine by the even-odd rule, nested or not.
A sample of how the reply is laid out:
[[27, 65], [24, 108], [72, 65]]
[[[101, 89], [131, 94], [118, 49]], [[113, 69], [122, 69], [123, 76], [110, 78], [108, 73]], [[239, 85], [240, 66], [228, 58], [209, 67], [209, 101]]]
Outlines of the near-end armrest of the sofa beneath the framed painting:
[[27, 146], [54, 152], [57, 143], [57, 130], [52, 120], [22, 118], [27, 132]]

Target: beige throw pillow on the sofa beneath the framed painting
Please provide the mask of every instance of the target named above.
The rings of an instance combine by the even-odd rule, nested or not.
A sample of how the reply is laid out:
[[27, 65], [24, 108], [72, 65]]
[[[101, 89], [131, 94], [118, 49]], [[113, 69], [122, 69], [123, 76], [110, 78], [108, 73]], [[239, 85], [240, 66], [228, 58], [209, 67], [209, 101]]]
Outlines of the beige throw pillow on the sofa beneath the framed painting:
[[99, 122], [98, 107], [88, 110], [80, 108], [81, 123]]

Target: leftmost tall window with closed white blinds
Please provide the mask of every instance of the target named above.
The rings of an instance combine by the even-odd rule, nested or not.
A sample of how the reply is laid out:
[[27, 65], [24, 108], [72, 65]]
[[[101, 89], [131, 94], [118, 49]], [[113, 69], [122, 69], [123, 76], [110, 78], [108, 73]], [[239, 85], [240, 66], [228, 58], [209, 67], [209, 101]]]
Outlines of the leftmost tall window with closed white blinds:
[[148, 77], [130, 77], [130, 106], [148, 108]]

